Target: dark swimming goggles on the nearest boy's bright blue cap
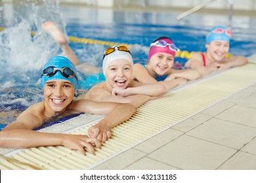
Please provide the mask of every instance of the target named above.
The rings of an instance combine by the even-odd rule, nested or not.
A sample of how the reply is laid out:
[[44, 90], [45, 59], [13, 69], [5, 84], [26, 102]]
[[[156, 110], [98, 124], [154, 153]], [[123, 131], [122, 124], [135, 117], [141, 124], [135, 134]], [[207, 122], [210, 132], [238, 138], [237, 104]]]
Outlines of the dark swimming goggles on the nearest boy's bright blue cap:
[[47, 68], [43, 69], [43, 73], [42, 73], [41, 77], [47, 76], [49, 78], [51, 76], [54, 76], [57, 71], [60, 71], [62, 76], [64, 76], [65, 78], [74, 78], [75, 77], [75, 79], [77, 80], [77, 76], [75, 75], [74, 71], [72, 71], [72, 69], [70, 69], [69, 67], [62, 67], [62, 68], [56, 68], [53, 66], [47, 67]]

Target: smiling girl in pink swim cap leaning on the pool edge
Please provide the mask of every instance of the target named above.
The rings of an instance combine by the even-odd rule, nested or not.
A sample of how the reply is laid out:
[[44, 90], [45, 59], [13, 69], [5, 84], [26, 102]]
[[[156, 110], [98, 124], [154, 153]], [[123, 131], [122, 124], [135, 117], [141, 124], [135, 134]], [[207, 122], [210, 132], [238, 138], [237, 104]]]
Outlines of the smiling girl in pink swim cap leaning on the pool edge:
[[134, 79], [142, 83], [155, 83], [162, 80], [168, 81], [175, 78], [196, 80], [200, 74], [192, 69], [173, 69], [175, 53], [179, 49], [168, 37], [160, 37], [150, 44], [148, 63], [136, 63], [133, 67]]

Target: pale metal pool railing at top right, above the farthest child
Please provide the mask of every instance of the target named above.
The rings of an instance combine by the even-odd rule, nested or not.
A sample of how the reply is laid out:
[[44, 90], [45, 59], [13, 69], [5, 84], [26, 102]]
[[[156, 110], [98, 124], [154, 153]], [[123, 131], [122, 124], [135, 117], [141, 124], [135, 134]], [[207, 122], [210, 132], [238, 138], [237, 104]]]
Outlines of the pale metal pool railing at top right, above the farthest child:
[[[209, 5], [210, 3], [213, 3], [213, 1], [216, 1], [216, 0], [209, 0], [209, 1], [205, 1], [203, 3], [201, 3], [200, 5], [197, 5], [196, 7], [194, 8], [191, 8], [190, 10], [187, 10], [186, 12], [183, 12], [182, 14], [179, 14], [177, 16], [177, 20], [181, 20], [182, 18], [206, 7], [207, 5]], [[232, 16], [233, 16], [233, 5], [234, 5], [234, 1], [233, 0], [227, 0], [229, 5], [230, 5], [230, 8], [229, 8], [229, 14], [228, 14], [228, 22], [227, 22], [227, 27], [228, 29], [231, 29], [232, 27]]]

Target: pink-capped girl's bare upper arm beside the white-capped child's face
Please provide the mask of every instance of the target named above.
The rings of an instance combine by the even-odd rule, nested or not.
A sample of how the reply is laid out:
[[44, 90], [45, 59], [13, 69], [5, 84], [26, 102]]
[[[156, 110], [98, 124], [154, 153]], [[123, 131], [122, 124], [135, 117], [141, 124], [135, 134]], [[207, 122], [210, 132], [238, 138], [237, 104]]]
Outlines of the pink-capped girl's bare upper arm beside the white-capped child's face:
[[148, 73], [145, 67], [143, 67], [143, 65], [141, 65], [140, 63], [135, 63], [135, 65], [133, 65], [133, 78], [141, 83], [150, 84], [158, 82]]

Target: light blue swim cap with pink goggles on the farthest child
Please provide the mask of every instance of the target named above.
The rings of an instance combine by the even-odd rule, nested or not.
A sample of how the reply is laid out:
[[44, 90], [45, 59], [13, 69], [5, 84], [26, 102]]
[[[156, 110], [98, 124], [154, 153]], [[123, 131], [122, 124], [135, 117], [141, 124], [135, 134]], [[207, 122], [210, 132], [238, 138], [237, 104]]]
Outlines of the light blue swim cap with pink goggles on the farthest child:
[[207, 37], [206, 37], [206, 44], [209, 44], [211, 41], [227, 41], [230, 42], [230, 38], [232, 36], [231, 31], [226, 29], [223, 26], [215, 26], [213, 27]]

